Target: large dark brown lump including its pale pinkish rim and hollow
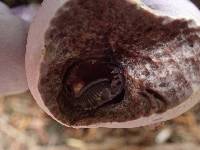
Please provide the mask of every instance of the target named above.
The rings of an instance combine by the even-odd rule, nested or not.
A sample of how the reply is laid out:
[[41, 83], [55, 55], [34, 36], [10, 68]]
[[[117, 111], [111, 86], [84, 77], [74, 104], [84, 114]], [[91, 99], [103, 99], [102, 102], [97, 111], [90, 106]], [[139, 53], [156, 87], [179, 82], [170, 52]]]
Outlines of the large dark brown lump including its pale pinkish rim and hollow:
[[199, 102], [200, 11], [188, 0], [45, 0], [31, 24], [28, 85], [74, 128], [132, 128]]

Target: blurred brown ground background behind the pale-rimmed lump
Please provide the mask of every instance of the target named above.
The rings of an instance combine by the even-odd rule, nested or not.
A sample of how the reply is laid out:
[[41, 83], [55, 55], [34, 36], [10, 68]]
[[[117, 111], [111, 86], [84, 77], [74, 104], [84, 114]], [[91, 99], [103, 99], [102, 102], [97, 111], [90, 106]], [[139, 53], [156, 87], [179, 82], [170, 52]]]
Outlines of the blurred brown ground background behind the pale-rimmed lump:
[[[10, 7], [41, 0], [3, 0]], [[0, 150], [200, 150], [200, 104], [182, 116], [133, 129], [71, 129], [48, 117], [29, 92], [0, 97]]]

